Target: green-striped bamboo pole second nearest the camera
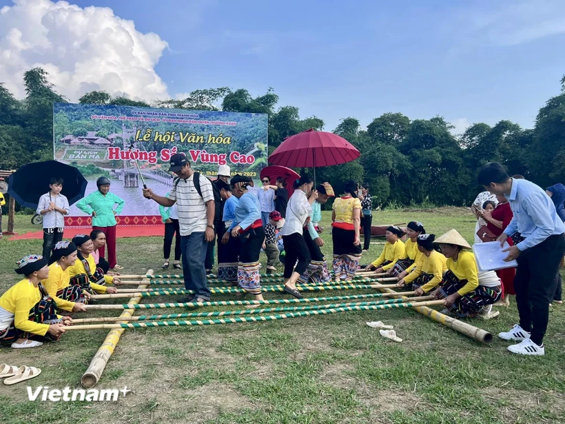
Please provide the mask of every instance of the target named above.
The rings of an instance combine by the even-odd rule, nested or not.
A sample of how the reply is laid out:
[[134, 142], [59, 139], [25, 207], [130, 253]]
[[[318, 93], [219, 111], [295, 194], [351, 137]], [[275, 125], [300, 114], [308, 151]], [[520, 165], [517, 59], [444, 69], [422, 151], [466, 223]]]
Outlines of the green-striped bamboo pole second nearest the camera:
[[[411, 302], [423, 302], [433, 300], [432, 296], [413, 297]], [[384, 301], [371, 301], [360, 303], [333, 303], [329, 305], [307, 305], [307, 306], [289, 306], [289, 307], [267, 307], [265, 309], [250, 309], [237, 311], [214, 311], [214, 312], [190, 312], [187, 314], [163, 314], [163, 315], [139, 315], [130, 316], [127, 319], [119, 316], [98, 316], [95, 318], [83, 318], [72, 320], [73, 325], [90, 324], [90, 323], [114, 323], [116, 321], [156, 321], [163, 319], [185, 319], [185, 318], [208, 318], [210, 316], [232, 316], [232, 315], [257, 315], [271, 314], [273, 312], [296, 312], [318, 309], [329, 309], [332, 307], [342, 307], [356, 305], [389, 305], [390, 303], [405, 303], [404, 299], [387, 299]]]

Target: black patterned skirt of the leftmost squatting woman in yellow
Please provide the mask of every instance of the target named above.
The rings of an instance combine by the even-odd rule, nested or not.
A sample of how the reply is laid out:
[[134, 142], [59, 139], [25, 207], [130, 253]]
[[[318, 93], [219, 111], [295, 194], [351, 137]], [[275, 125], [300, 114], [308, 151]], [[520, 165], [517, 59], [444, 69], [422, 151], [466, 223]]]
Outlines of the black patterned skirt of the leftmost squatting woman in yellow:
[[[56, 324], [61, 323], [61, 319], [57, 316], [57, 307], [55, 301], [47, 294], [47, 291], [39, 285], [42, 294], [41, 299], [37, 302], [34, 307], [30, 309], [29, 321], [39, 324]], [[41, 290], [43, 289], [43, 290]], [[38, 334], [32, 334], [28, 332], [23, 332], [17, 329], [14, 325], [14, 321], [8, 325], [5, 330], [0, 330], [0, 345], [11, 345], [17, 339], [32, 339], [38, 341], [56, 341], [58, 338], [52, 336], [49, 332], [46, 332], [44, 336], [39, 336]]]

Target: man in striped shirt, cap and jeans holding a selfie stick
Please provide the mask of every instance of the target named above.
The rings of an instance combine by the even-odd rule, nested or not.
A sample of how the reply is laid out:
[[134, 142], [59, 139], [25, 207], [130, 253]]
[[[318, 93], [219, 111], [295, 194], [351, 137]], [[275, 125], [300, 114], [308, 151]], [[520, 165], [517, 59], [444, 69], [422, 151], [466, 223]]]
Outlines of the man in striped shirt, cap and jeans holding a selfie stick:
[[153, 199], [159, 205], [170, 207], [176, 203], [178, 224], [181, 228], [181, 254], [185, 287], [194, 291], [193, 296], [178, 299], [179, 302], [205, 302], [210, 300], [207, 287], [206, 259], [207, 243], [214, 240], [214, 192], [212, 183], [202, 174], [198, 175], [200, 193], [194, 185], [194, 170], [185, 154], [174, 154], [170, 160], [170, 172], [178, 179], [167, 197], [154, 194], [150, 188], [143, 190], [143, 196]]

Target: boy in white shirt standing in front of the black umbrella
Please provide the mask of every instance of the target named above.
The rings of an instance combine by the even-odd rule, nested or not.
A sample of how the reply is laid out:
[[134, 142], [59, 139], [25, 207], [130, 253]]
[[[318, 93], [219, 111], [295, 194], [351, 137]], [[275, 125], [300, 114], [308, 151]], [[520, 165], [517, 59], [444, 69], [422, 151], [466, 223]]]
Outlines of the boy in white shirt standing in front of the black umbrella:
[[43, 216], [43, 257], [49, 259], [56, 243], [63, 240], [65, 215], [69, 214], [69, 201], [64, 194], [63, 179], [53, 177], [49, 184], [50, 191], [39, 198], [37, 213]]

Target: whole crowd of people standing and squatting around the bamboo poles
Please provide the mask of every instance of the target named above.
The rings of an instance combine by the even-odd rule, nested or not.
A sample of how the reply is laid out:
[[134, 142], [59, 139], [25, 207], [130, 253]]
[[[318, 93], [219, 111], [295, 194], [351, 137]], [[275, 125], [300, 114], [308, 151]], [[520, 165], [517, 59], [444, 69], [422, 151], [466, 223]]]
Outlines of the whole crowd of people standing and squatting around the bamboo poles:
[[[371, 237], [368, 185], [347, 181], [343, 193], [336, 196], [329, 183], [315, 187], [310, 176], [302, 175], [294, 181], [289, 199], [282, 178], [271, 185], [265, 177], [263, 186], [256, 188], [251, 178], [232, 176], [223, 165], [218, 179], [211, 181], [194, 172], [184, 154], [171, 158], [170, 172], [177, 176], [170, 192], [161, 196], [144, 188], [143, 196], [160, 205], [165, 224], [164, 268], [170, 266], [176, 234], [173, 266], [182, 268], [185, 288], [193, 293], [180, 302], [209, 301], [207, 270], [217, 243], [219, 278], [256, 300], [263, 300], [262, 250], [267, 255], [267, 273], [274, 272], [284, 257], [284, 292], [298, 299], [302, 298], [297, 288], [301, 283], [343, 283], [361, 268], [396, 277], [398, 287], [417, 296], [443, 299], [442, 312], [457, 318], [491, 319], [500, 314], [493, 312], [492, 305], [515, 294], [520, 323], [499, 335], [520, 341], [509, 347], [511, 352], [544, 354], [548, 307], [552, 300], [560, 301], [559, 262], [565, 253], [565, 225], [559, 212], [563, 208], [554, 205], [564, 200], [560, 185], [545, 192], [523, 177], [510, 177], [498, 163], [481, 168], [478, 182], [486, 191], [472, 207], [477, 217], [475, 243], [508, 242], [504, 245], [507, 260], [516, 259], [518, 264], [516, 269], [485, 272], [478, 269], [471, 245], [459, 232], [451, 230], [436, 238], [419, 221], [411, 221], [407, 228], [387, 228], [382, 254], [362, 265]], [[92, 233], [62, 241], [68, 201], [61, 194], [63, 181], [51, 182], [50, 192], [42, 196], [38, 207], [38, 213], [48, 217], [43, 221], [43, 255], [21, 259], [16, 272], [25, 279], [0, 297], [1, 345], [35, 347], [42, 343], [38, 339], [55, 340], [72, 323], [57, 315], [58, 309], [81, 312], [92, 294], [119, 291], [115, 287], [121, 283], [116, 273], [121, 267], [116, 261], [114, 215], [123, 208], [123, 201], [110, 192], [110, 181], [101, 177], [99, 190], [77, 204], [92, 214]], [[322, 205], [331, 198], [330, 269], [320, 249], [325, 245], [320, 223]]]

